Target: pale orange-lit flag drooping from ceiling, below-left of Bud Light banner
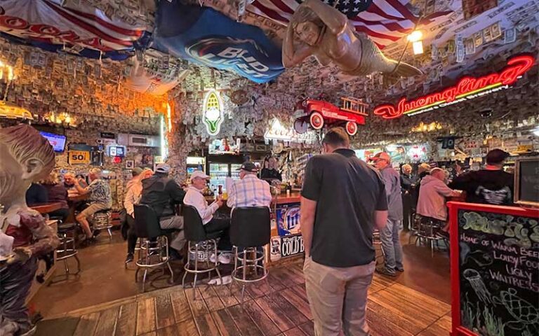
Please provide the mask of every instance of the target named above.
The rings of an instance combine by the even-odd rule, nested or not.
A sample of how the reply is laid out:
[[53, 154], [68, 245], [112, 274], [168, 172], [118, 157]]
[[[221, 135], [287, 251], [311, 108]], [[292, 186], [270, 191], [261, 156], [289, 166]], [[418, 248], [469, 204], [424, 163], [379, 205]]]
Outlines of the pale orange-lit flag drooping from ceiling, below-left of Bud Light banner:
[[126, 87], [160, 96], [180, 84], [189, 74], [187, 62], [164, 55], [157, 50], [137, 52], [126, 67]]

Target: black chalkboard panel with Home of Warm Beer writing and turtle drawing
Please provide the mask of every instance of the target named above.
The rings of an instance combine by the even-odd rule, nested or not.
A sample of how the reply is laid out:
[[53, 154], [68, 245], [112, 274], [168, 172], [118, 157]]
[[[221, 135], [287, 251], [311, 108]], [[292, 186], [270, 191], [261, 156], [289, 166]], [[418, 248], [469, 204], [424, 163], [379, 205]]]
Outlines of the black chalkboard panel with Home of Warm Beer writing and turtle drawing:
[[538, 218], [458, 209], [460, 325], [539, 335]]

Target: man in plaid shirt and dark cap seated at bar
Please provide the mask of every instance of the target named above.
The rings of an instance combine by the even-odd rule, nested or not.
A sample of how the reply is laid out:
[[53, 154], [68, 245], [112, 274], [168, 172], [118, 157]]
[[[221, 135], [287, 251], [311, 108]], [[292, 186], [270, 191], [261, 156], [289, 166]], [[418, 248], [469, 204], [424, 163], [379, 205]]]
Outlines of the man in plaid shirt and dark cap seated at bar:
[[239, 169], [239, 180], [234, 181], [228, 193], [227, 206], [270, 207], [272, 193], [270, 184], [258, 179], [258, 168], [253, 162], [245, 162]]

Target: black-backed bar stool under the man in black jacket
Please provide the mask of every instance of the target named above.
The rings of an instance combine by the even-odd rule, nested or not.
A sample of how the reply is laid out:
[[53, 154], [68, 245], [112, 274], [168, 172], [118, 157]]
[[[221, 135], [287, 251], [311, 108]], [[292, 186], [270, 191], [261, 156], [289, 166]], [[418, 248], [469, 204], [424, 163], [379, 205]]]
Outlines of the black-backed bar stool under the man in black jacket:
[[[170, 258], [168, 256], [168, 238], [166, 234], [171, 230], [162, 230], [159, 226], [159, 217], [152, 207], [147, 204], [135, 204], [135, 234], [140, 241], [138, 250], [137, 272], [135, 282], [138, 282], [138, 272], [144, 269], [142, 276], [142, 292], [145, 290], [148, 269], [162, 268], [166, 265], [171, 272], [170, 283], [174, 282]], [[165, 274], [165, 269], [163, 269]]]

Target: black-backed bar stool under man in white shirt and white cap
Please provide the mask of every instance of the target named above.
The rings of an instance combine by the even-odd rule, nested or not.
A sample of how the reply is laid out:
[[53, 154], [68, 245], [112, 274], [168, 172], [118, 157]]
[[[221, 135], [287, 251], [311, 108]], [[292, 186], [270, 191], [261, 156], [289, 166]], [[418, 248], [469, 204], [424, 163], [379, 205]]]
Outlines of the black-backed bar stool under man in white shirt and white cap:
[[[185, 288], [185, 277], [187, 274], [194, 274], [193, 279], [193, 297], [197, 299], [197, 291], [194, 290], [197, 287], [197, 276], [199, 274], [208, 273], [208, 279], [211, 279], [211, 272], [215, 270], [219, 276], [220, 283], [222, 283], [221, 274], [219, 272], [219, 262], [217, 254], [217, 239], [222, 234], [222, 231], [218, 232], [206, 232], [204, 230], [204, 224], [202, 218], [200, 218], [197, 208], [190, 205], [182, 205], [183, 214], [183, 228], [185, 232], [185, 239], [187, 239], [187, 262], [183, 269], [182, 288]], [[211, 262], [210, 253], [214, 253], [215, 260]], [[191, 261], [191, 255], [194, 255], [194, 262]], [[201, 258], [202, 257], [202, 258]], [[201, 268], [202, 265], [206, 267]]]

